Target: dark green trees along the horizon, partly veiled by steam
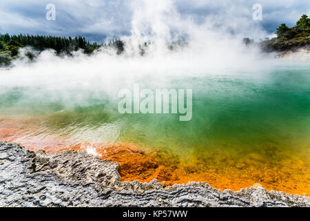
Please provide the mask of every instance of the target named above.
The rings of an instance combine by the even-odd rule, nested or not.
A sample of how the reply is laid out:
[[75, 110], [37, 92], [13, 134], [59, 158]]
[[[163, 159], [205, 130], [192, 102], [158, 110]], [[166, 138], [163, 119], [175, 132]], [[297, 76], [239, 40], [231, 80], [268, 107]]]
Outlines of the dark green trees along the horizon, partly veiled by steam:
[[[296, 26], [289, 28], [282, 23], [276, 30], [277, 37], [260, 41], [258, 45], [266, 52], [297, 50], [302, 47], [310, 46], [310, 17], [302, 15], [296, 22]], [[243, 42], [247, 45], [253, 44], [254, 40], [245, 38]], [[148, 43], [149, 44], [149, 43]], [[168, 44], [170, 49], [175, 46], [183, 46], [185, 42], [176, 41]], [[124, 43], [119, 39], [114, 39], [108, 44], [90, 43], [85, 37], [52, 37], [41, 35], [9, 35], [0, 34], [0, 66], [9, 66], [12, 59], [19, 56], [19, 49], [30, 47], [34, 51], [42, 52], [46, 49], [52, 49], [56, 55], [70, 55], [72, 52], [82, 50], [86, 55], [91, 55], [95, 50], [101, 47], [113, 47], [119, 55], [124, 50]], [[147, 43], [141, 46], [141, 55], [145, 52]], [[33, 60], [35, 55], [32, 50], [28, 50], [26, 56]]]

